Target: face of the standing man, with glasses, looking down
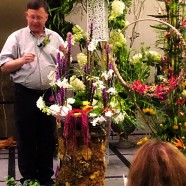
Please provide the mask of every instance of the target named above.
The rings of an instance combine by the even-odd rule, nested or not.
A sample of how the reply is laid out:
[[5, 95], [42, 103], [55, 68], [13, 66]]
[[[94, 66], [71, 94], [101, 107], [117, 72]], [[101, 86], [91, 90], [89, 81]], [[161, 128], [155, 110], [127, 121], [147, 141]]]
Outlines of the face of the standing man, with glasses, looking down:
[[25, 12], [25, 15], [30, 30], [36, 35], [42, 34], [45, 23], [48, 19], [48, 14], [46, 13], [45, 9], [28, 9]]

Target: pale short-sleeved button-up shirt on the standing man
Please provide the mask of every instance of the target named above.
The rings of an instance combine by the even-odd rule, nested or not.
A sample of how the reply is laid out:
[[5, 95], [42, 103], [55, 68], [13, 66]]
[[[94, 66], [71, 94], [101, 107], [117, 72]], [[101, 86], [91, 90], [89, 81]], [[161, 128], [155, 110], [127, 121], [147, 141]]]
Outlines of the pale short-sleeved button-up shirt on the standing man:
[[[50, 42], [45, 47], [38, 47], [43, 39], [49, 36]], [[0, 54], [0, 65], [21, 57], [30, 52], [36, 55], [35, 61], [24, 64], [20, 69], [10, 74], [14, 83], [19, 83], [27, 88], [44, 90], [49, 88], [47, 75], [56, 69], [57, 52], [59, 46], [64, 44], [61, 36], [45, 28], [40, 37], [35, 37], [29, 27], [13, 32], [5, 42]]]

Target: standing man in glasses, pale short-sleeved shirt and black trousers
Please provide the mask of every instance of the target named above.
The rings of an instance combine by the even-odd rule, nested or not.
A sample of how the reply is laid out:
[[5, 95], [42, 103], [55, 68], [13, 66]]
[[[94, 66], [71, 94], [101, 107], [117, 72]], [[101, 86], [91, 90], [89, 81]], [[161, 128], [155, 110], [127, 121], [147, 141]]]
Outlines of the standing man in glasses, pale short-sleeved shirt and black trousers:
[[47, 75], [55, 70], [57, 50], [64, 40], [45, 28], [47, 3], [31, 0], [25, 12], [28, 26], [12, 33], [0, 54], [2, 72], [9, 72], [15, 83], [15, 125], [18, 166], [23, 183], [37, 179], [41, 185], [52, 185], [55, 152], [55, 118], [36, 107], [45, 93], [47, 102], [50, 85]]

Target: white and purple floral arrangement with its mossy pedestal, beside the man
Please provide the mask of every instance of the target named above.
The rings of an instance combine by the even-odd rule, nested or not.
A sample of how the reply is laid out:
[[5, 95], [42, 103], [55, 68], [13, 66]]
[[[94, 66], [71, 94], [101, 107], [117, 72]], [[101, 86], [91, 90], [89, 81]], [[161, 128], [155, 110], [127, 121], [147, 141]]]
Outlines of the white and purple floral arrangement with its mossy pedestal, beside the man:
[[[122, 8], [116, 13], [118, 4]], [[125, 4], [118, 0], [109, 7], [112, 23], [126, 10]], [[126, 23], [121, 17], [120, 20], [123, 28]], [[90, 23], [89, 29], [88, 35], [80, 26], [74, 25], [72, 32], [67, 34], [67, 53], [58, 52], [56, 71], [48, 75], [52, 95], [49, 100], [44, 100], [43, 95], [37, 101], [38, 108], [55, 116], [57, 121], [58, 156], [62, 162], [57, 185], [103, 185], [111, 120], [119, 123], [126, 116], [130, 117], [123, 110], [116, 89], [112, 65], [114, 42], [93, 39], [94, 22]], [[125, 42], [121, 31], [112, 31]], [[80, 44], [82, 51], [77, 54], [78, 67], [74, 67], [72, 75], [69, 73], [71, 49], [76, 44]]]

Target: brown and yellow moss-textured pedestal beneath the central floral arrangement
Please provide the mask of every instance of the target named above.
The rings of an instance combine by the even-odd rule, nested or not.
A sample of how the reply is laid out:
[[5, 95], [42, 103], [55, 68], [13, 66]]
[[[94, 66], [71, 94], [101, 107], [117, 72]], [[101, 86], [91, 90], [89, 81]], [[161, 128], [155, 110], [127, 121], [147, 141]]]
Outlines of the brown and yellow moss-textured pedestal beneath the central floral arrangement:
[[88, 144], [85, 144], [80, 125], [72, 130], [74, 136], [69, 134], [67, 138], [62, 135], [64, 127], [59, 128], [60, 169], [56, 177], [56, 186], [104, 185], [109, 128], [109, 121], [102, 126], [89, 128]]

